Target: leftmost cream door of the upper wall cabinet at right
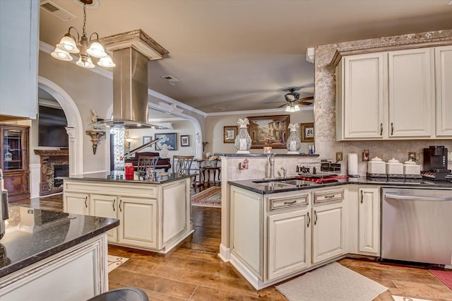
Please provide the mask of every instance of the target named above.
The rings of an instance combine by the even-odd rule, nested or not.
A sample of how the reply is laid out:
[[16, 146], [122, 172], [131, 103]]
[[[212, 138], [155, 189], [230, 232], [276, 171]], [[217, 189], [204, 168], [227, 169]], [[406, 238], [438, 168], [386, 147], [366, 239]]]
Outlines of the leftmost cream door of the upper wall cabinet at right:
[[383, 138], [385, 61], [383, 53], [343, 59], [343, 138]]

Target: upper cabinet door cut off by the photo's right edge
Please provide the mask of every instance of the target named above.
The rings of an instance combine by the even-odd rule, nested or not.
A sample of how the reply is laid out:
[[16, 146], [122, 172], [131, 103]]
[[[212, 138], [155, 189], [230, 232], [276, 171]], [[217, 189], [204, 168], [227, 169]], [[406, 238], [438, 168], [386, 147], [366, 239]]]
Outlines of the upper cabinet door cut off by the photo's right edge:
[[452, 46], [435, 48], [436, 136], [452, 136]]

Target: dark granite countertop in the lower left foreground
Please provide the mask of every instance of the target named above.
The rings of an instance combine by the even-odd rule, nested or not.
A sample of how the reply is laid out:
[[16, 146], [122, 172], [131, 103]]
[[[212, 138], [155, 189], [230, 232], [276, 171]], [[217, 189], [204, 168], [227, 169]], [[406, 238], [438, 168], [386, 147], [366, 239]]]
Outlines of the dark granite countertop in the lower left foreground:
[[0, 240], [0, 277], [90, 240], [119, 225], [116, 218], [10, 206]]

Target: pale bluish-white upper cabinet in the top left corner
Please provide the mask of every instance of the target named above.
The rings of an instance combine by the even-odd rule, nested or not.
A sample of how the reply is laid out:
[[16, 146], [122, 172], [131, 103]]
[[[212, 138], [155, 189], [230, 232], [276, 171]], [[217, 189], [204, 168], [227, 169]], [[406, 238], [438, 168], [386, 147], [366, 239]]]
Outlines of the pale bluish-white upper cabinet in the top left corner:
[[0, 1], [0, 120], [36, 119], [40, 1]]

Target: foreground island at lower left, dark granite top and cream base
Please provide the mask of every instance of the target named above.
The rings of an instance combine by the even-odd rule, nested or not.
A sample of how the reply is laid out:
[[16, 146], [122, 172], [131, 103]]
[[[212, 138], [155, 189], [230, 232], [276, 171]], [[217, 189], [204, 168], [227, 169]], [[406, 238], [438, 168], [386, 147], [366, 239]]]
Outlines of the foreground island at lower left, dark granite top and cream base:
[[108, 290], [115, 218], [9, 208], [0, 240], [0, 300], [87, 300]]

